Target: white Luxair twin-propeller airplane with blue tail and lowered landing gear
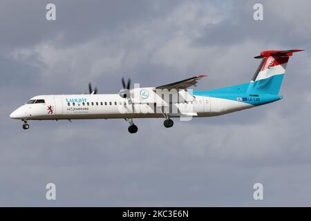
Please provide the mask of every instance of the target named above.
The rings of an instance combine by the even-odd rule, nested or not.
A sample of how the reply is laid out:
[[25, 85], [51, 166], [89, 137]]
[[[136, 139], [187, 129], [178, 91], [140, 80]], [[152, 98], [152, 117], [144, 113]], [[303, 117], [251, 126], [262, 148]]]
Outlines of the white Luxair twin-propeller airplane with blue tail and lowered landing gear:
[[164, 127], [173, 126], [173, 117], [212, 117], [242, 111], [283, 98], [279, 90], [294, 52], [303, 50], [265, 50], [254, 57], [261, 59], [254, 77], [245, 84], [214, 90], [192, 90], [207, 75], [197, 75], [157, 87], [130, 88], [131, 80], [117, 94], [98, 94], [88, 84], [90, 94], [39, 95], [32, 97], [10, 114], [21, 119], [27, 130], [29, 120], [125, 119], [129, 133], [136, 133], [135, 118], [164, 118]]

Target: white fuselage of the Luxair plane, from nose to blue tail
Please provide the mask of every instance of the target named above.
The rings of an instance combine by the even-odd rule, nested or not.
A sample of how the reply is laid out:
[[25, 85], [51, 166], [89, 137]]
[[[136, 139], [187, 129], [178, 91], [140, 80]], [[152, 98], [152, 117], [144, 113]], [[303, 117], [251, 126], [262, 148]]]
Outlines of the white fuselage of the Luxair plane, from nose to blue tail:
[[152, 117], [211, 117], [252, 108], [252, 104], [206, 96], [173, 102], [127, 99], [119, 94], [39, 95], [39, 104], [23, 104], [10, 117], [14, 119], [109, 119]]

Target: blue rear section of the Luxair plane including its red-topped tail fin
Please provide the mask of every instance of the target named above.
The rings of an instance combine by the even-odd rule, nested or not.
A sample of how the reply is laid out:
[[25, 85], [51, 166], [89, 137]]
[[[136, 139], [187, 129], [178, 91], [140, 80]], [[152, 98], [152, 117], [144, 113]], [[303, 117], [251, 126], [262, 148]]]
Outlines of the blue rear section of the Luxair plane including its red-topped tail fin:
[[246, 84], [238, 84], [215, 90], [192, 92], [193, 95], [230, 99], [237, 102], [244, 102], [254, 106], [275, 102], [282, 99], [279, 95], [283, 77], [285, 74], [288, 59], [293, 52], [301, 50], [267, 50], [255, 58], [261, 58], [252, 81]]

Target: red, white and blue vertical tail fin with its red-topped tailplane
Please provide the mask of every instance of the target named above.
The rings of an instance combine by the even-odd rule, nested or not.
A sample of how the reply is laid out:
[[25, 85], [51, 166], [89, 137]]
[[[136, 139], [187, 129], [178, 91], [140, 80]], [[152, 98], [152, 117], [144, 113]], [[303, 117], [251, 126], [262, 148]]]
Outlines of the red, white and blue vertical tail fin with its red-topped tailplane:
[[303, 50], [265, 50], [254, 58], [262, 59], [252, 81], [249, 83], [247, 93], [267, 93], [277, 95], [281, 88], [288, 59], [293, 52]]

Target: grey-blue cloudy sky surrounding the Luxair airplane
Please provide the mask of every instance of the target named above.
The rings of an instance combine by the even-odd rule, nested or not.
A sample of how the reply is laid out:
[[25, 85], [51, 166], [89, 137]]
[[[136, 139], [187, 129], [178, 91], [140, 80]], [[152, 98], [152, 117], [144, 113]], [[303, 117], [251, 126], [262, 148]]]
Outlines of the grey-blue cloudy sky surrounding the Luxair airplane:
[[[56, 21], [46, 20], [55, 3]], [[253, 6], [263, 4], [263, 21]], [[0, 1], [0, 206], [310, 206], [310, 1]], [[208, 73], [245, 83], [262, 50], [301, 48], [279, 102], [220, 117], [30, 122], [30, 97], [117, 93]], [[53, 182], [57, 200], [46, 200]], [[253, 199], [263, 184], [264, 200]]]

